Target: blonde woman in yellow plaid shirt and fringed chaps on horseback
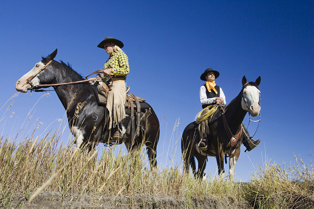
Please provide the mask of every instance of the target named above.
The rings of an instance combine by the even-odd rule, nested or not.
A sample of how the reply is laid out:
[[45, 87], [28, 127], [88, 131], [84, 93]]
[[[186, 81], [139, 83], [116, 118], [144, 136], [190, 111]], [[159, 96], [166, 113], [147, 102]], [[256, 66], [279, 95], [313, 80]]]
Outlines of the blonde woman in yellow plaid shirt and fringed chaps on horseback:
[[[113, 139], [120, 139], [122, 131], [119, 124], [126, 117], [126, 83], [127, 74], [130, 72], [129, 58], [122, 51], [123, 43], [113, 37], [105, 37], [98, 47], [104, 48], [109, 58], [104, 65], [104, 75], [112, 76], [112, 86], [107, 96], [106, 108], [109, 111], [109, 128], [114, 129]], [[111, 84], [111, 82], [110, 82]], [[121, 125], [120, 125], [121, 126]]]

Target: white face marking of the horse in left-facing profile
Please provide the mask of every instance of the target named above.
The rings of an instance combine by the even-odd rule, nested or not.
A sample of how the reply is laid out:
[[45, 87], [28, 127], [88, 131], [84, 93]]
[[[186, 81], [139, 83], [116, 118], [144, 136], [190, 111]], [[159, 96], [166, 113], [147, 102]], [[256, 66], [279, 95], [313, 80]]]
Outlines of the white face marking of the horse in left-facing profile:
[[[30, 89], [30, 84], [26, 82], [26, 79], [30, 76], [34, 75], [38, 70], [40, 70], [45, 65], [42, 62], [36, 63], [34, 68], [29, 70], [25, 75], [23, 75], [15, 84], [15, 88], [19, 92], [26, 93], [27, 90]], [[37, 86], [40, 84], [40, 81], [37, 77], [33, 78], [31, 81], [33, 86]]]

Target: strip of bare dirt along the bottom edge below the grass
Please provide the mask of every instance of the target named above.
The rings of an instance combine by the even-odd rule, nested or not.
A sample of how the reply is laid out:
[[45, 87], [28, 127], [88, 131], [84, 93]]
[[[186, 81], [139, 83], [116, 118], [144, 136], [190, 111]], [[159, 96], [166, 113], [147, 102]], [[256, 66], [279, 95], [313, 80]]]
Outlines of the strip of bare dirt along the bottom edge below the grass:
[[61, 193], [42, 192], [31, 203], [25, 197], [13, 197], [11, 205], [1, 208], [108, 208], [108, 209], [252, 209], [248, 204], [238, 203], [232, 198], [218, 200], [189, 199], [181, 200], [172, 196], [152, 197], [136, 195], [133, 197], [93, 197], [89, 195], [68, 195], [61, 198]]

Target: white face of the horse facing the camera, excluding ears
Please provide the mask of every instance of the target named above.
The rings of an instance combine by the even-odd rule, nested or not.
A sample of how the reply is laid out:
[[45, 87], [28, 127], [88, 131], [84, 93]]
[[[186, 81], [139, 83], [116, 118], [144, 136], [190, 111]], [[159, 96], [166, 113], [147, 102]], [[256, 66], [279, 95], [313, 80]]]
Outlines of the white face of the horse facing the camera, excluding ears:
[[255, 86], [247, 86], [243, 89], [241, 106], [242, 109], [248, 111], [251, 116], [258, 116], [260, 114], [260, 93], [260, 90], [258, 90]]

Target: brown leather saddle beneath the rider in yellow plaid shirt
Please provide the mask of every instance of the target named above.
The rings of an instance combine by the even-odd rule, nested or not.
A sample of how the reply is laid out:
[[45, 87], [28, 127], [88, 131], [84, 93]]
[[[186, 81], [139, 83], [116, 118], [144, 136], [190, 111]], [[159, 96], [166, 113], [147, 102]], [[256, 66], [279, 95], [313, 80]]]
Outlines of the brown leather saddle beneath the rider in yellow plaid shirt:
[[[104, 81], [96, 81], [91, 84], [92, 90], [95, 94], [97, 103], [99, 106], [106, 107], [107, 96], [109, 92], [109, 87]], [[134, 140], [134, 136], [136, 133], [136, 137], [139, 136], [140, 133], [140, 126], [141, 126], [141, 109], [148, 109], [150, 108], [149, 105], [145, 102], [144, 98], [136, 96], [134, 94], [128, 94], [130, 91], [130, 87], [127, 87], [127, 96], [125, 102], [125, 108], [131, 109], [131, 139], [132, 143]], [[134, 109], [136, 109], [135, 116], [136, 116], [136, 132], [135, 132], [135, 116], [134, 116]]]

